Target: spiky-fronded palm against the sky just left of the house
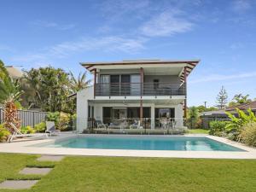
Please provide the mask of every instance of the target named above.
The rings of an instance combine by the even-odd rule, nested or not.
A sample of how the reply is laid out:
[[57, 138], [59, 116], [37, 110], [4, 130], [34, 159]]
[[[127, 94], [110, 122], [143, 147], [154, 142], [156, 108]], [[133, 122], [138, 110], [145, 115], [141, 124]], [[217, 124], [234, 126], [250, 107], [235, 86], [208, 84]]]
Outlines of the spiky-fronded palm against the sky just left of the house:
[[70, 88], [73, 91], [73, 93], [78, 92], [79, 90], [83, 90], [86, 88], [91, 80], [86, 80], [86, 72], [79, 73], [79, 77], [76, 79], [74, 74], [70, 72]]

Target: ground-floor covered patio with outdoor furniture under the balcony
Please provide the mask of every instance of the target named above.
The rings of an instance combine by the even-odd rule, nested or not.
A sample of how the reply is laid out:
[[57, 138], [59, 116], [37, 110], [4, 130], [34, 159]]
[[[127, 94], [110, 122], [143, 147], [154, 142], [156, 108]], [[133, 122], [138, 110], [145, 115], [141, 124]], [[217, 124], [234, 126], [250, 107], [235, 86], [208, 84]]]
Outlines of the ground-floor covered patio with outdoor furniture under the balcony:
[[[90, 130], [162, 130], [183, 128], [183, 99], [90, 100]], [[133, 130], [133, 131], [132, 131]]]

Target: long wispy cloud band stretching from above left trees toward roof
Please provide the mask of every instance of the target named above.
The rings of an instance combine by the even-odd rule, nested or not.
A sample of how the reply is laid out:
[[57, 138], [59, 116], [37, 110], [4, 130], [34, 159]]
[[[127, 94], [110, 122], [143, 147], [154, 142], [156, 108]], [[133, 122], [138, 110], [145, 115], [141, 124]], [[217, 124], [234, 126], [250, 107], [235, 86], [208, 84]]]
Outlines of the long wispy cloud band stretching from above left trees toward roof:
[[101, 50], [102, 52], [125, 52], [132, 54], [141, 49], [145, 49], [144, 44], [146, 41], [146, 38], [122, 38], [118, 36], [80, 38], [77, 41], [55, 44], [41, 50], [40, 53], [29, 53], [22, 56], [16, 56], [13, 60], [49, 63], [51, 59], [67, 58], [68, 56], [90, 50]]

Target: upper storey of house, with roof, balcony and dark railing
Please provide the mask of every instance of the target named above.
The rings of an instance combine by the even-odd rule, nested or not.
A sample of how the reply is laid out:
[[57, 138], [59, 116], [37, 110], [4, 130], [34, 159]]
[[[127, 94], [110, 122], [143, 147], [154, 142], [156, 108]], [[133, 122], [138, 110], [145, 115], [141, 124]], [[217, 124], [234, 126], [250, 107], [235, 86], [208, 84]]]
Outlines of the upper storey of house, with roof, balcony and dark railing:
[[198, 63], [199, 60], [143, 60], [81, 64], [94, 74], [94, 96], [147, 96], [148, 98], [148, 96], [186, 96], [187, 77]]

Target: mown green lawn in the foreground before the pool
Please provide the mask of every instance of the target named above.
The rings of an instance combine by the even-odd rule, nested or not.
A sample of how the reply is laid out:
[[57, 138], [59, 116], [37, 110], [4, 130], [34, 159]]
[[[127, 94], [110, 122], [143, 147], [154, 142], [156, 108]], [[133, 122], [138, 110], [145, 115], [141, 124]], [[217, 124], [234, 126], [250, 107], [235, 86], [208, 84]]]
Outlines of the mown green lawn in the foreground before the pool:
[[[23, 178], [37, 155], [0, 154], [0, 180]], [[19, 191], [256, 191], [256, 160], [66, 157], [31, 190]], [[24, 177], [29, 178], [29, 177]], [[31, 177], [32, 178], [32, 177]], [[12, 190], [2, 190], [12, 191]]]

